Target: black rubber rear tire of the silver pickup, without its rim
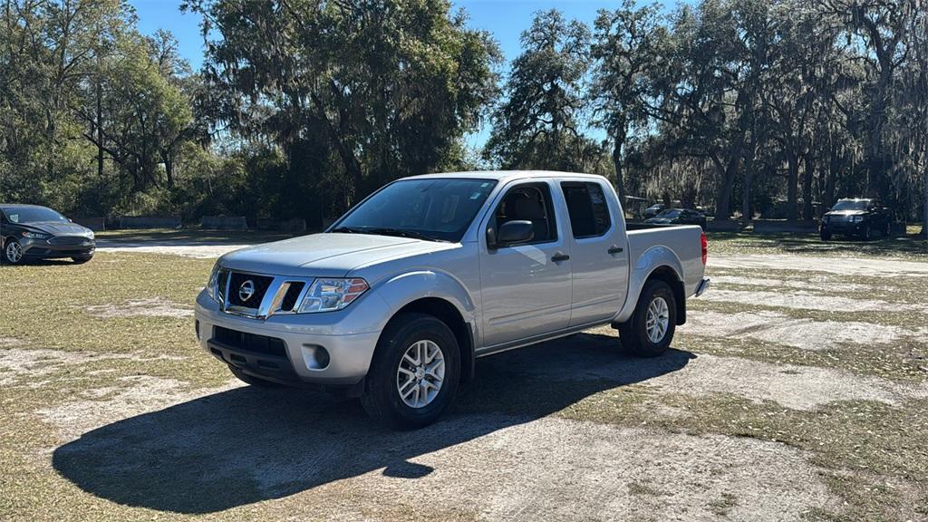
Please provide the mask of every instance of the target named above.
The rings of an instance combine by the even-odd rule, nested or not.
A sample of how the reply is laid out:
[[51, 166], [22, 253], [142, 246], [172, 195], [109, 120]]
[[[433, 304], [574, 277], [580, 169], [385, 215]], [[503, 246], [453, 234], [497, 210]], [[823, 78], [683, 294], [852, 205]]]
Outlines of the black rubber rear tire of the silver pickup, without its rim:
[[[657, 298], [664, 299], [667, 305], [667, 328], [664, 336], [657, 343], [648, 337], [648, 308]], [[627, 322], [619, 325], [619, 339], [625, 351], [638, 357], [659, 357], [664, 355], [674, 340], [677, 330], [677, 298], [670, 285], [664, 281], [651, 280], [645, 283], [635, 313]]]

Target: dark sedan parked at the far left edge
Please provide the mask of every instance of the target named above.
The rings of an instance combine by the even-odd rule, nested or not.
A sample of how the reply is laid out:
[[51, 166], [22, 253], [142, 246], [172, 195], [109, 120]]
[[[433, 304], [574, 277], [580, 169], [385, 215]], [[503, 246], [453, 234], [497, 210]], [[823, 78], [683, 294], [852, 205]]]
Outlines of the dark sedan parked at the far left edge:
[[86, 263], [97, 249], [90, 228], [50, 208], [4, 203], [0, 203], [0, 245], [3, 262], [11, 265], [64, 257]]

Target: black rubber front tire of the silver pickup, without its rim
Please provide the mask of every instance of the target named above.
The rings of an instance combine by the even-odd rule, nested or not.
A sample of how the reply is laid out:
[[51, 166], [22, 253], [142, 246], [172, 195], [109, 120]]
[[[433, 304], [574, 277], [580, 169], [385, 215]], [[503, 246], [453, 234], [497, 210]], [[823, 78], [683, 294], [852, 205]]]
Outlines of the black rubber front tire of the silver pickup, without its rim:
[[[445, 375], [437, 395], [425, 406], [413, 408], [400, 397], [398, 372], [406, 350], [419, 341], [432, 341], [445, 359]], [[458, 392], [460, 352], [447, 325], [430, 315], [396, 316], [380, 335], [367, 371], [361, 404], [373, 419], [395, 429], [415, 429], [434, 423]]]

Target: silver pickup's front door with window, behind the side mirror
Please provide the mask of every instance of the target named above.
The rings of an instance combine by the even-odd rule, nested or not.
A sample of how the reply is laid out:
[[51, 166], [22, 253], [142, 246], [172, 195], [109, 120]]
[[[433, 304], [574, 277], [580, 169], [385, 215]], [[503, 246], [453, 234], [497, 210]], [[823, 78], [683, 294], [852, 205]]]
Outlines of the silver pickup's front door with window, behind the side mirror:
[[481, 234], [486, 347], [561, 330], [570, 320], [571, 259], [562, 231], [564, 216], [552, 204], [551, 183], [533, 181], [507, 189], [482, 230], [512, 220], [532, 222], [532, 241], [491, 249]]

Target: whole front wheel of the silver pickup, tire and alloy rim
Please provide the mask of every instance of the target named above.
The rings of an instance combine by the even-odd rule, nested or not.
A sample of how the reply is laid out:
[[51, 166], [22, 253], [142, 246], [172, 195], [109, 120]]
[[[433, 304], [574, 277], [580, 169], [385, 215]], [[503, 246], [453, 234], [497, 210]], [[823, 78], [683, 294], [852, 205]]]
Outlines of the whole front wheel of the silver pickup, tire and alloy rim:
[[459, 375], [458, 341], [447, 325], [430, 315], [402, 314], [380, 335], [361, 403], [393, 428], [422, 427], [451, 404]]

